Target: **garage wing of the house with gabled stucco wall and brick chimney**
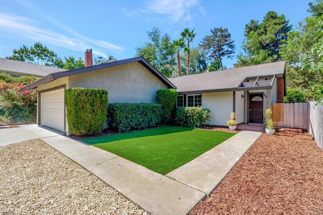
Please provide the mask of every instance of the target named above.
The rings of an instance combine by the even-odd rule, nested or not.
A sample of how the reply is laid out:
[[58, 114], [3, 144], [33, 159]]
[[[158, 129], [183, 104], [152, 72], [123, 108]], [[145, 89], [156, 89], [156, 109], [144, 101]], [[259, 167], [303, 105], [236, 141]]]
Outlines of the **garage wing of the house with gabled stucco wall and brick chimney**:
[[[90, 63], [89, 63], [90, 62]], [[104, 89], [109, 103], [156, 102], [158, 89], [175, 85], [144, 58], [110, 61], [92, 65], [92, 52], [85, 52], [84, 68], [46, 75], [21, 90], [37, 88], [37, 123], [69, 134], [66, 119], [65, 90], [74, 87]]]

